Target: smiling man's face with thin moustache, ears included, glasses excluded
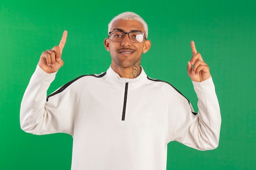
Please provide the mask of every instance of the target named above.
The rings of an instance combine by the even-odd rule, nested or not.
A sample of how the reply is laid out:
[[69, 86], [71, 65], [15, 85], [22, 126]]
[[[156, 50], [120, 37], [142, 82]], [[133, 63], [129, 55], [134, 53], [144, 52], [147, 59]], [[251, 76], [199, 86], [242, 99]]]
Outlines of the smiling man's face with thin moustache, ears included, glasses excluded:
[[[137, 20], [116, 20], [111, 31], [122, 31], [122, 32], [142, 32], [145, 33], [143, 25]], [[122, 42], [113, 42], [110, 38], [106, 38], [104, 41], [105, 48], [110, 50], [110, 55], [112, 58], [111, 66], [112, 68], [130, 68], [133, 65], [140, 64], [140, 59], [143, 51], [148, 51], [150, 48], [150, 41], [143, 38], [142, 42], [132, 43], [128, 37], [125, 35]], [[138, 63], [139, 62], [139, 63]]]

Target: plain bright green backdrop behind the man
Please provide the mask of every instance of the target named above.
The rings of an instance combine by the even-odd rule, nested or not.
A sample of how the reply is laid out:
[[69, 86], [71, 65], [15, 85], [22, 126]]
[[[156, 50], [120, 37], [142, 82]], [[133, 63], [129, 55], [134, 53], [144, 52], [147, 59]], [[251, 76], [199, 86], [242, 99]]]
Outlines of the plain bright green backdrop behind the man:
[[[0, 1], [0, 170], [70, 170], [72, 137], [20, 129], [22, 95], [40, 54], [68, 31], [64, 66], [49, 88], [110, 66], [103, 46], [108, 23], [124, 11], [141, 15], [152, 46], [148, 76], [197, 97], [186, 73], [190, 41], [210, 66], [222, 114], [219, 147], [198, 151], [168, 144], [167, 170], [256, 170], [256, 1]], [[102, 141], [104, 142], [104, 141]]]

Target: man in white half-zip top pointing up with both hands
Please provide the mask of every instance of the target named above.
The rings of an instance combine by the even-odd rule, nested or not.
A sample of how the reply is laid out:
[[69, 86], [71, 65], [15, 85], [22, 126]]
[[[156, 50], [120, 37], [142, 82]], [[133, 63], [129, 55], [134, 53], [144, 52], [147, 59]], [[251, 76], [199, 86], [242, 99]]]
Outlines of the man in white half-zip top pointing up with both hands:
[[22, 99], [22, 130], [72, 135], [72, 170], [165, 170], [170, 141], [198, 150], [216, 148], [218, 99], [209, 67], [194, 42], [187, 70], [198, 95], [198, 114], [176, 88], [149, 78], [140, 66], [151, 42], [139, 15], [119, 14], [108, 32], [104, 44], [112, 59], [110, 68], [78, 77], [48, 97], [47, 89], [63, 65], [67, 31], [59, 46], [42, 53]]

